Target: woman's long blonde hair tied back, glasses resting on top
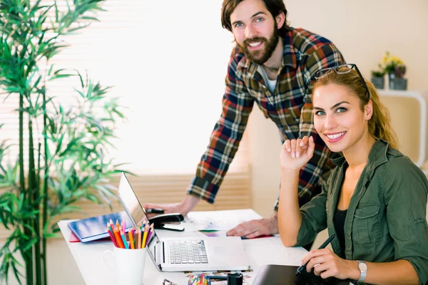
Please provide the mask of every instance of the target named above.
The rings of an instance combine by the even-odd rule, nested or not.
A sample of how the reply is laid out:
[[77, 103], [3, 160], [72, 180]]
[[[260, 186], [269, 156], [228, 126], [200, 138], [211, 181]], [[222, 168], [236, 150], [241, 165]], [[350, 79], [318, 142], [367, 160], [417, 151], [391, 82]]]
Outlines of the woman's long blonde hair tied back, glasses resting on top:
[[[337, 71], [345, 71], [347, 67], [337, 68]], [[369, 133], [376, 140], [385, 140], [389, 142], [389, 145], [393, 148], [398, 147], [397, 135], [392, 129], [391, 120], [389, 119], [389, 110], [380, 102], [379, 93], [370, 81], [362, 78], [367, 88], [369, 89], [370, 95], [367, 95], [365, 87], [362, 85], [360, 76], [355, 69], [352, 69], [348, 73], [338, 74], [335, 71], [330, 71], [326, 76], [318, 79], [313, 84], [313, 90], [320, 86], [326, 86], [327, 84], [337, 84], [339, 86], [346, 86], [352, 90], [355, 95], [360, 99], [360, 109], [364, 111], [365, 105], [372, 100], [373, 114], [368, 122]]]

